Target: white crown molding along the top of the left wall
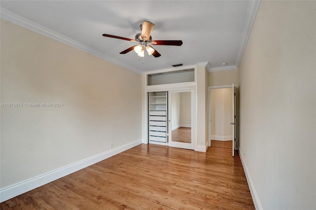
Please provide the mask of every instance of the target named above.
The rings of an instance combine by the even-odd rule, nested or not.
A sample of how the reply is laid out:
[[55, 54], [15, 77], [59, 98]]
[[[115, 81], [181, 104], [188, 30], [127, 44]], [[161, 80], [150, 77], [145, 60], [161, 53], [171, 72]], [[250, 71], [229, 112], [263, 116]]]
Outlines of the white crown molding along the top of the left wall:
[[127, 66], [126, 64], [124, 64], [116, 59], [113, 59], [109, 56], [106, 56], [103, 53], [101, 53], [97, 50], [94, 50], [94, 49], [74, 40], [74, 39], [71, 39], [65, 35], [59, 34], [53, 30], [50, 30], [50, 29], [40, 25], [40, 24], [37, 24], [37, 23], [30, 21], [24, 17], [21, 17], [20, 15], [17, 15], [13, 12], [10, 12], [9, 10], [4, 9], [2, 7], [0, 8], [0, 17], [4, 20], [11, 22], [11, 23], [22, 26], [22, 27], [29, 29], [31, 31], [34, 31], [40, 35], [47, 36], [47, 37], [52, 38], [56, 41], [62, 42], [62, 43], [67, 44], [69, 46], [75, 47], [83, 52], [86, 52], [86, 53], [94, 55], [98, 58], [101, 58], [105, 61], [114, 63], [120, 67], [127, 69], [127, 70], [131, 70], [131, 71], [134, 71], [134, 72], [139, 73], [139, 74], [143, 73], [140, 70], [136, 70], [134, 68], [131, 68], [130, 66]]

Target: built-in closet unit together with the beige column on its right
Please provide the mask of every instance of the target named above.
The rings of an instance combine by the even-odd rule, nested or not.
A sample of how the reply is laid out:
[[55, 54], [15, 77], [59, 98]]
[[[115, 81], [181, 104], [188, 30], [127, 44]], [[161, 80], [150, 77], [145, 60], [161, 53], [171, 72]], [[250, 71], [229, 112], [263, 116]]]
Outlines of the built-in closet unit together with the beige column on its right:
[[143, 143], [206, 152], [207, 66], [144, 72]]

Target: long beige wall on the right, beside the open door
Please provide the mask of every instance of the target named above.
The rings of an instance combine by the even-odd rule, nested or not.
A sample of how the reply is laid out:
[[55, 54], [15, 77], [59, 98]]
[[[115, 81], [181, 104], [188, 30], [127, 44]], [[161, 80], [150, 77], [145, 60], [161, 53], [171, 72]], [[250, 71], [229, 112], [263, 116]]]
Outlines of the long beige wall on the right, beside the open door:
[[316, 209], [316, 1], [261, 1], [239, 87], [240, 153], [261, 207]]

